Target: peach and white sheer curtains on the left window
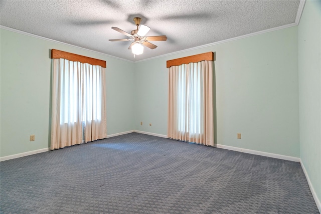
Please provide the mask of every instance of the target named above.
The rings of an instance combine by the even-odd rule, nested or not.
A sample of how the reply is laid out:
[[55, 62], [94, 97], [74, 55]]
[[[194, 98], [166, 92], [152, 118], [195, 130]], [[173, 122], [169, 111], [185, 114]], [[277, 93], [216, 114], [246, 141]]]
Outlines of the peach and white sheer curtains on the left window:
[[105, 68], [52, 61], [51, 149], [107, 137]]

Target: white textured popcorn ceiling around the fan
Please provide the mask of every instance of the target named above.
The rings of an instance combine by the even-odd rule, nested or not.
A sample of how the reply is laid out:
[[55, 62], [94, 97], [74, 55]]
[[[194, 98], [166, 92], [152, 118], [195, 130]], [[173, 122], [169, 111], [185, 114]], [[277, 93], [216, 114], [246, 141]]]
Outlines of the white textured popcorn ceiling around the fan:
[[[299, 1], [5, 1], [0, 24], [34, 35], [105, 53], [130, 61], [190, 49], [293, 24]], [[114, 31], [136, 29], [134, 17], [151, 30], [146, 36], [166, 35], [133, 57], [130, 41]]]

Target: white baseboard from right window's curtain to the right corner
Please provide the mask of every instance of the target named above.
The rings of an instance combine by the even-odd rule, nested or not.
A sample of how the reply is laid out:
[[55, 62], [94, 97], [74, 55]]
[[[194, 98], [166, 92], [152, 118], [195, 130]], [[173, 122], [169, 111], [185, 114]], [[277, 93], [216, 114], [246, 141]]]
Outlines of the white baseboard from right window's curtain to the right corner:
[[216, 144], [215, 147], [233, 150], [233, 151], [244, 152], [244, 153], [249, 153], [249, 154], [257, 154], [257, 155], [266, 156], [266, 157], [273, 157], [273, 158], [278, 158], [278, 159], [282, 159], [282, 160], [290, 160], [290, 161], [300, 162], [300, 158], [298, 158], [298, 157], [268, 153], [268, 152], [263, 152], [263, 151], [256, 151], [256, 150], [251, 150], [251, 149], [243, 149], [243, 148], [238, 148], [238, 147], [233, 147], [233, 146], [225, 146], [225, 145], [221, 145], [221, 144]]

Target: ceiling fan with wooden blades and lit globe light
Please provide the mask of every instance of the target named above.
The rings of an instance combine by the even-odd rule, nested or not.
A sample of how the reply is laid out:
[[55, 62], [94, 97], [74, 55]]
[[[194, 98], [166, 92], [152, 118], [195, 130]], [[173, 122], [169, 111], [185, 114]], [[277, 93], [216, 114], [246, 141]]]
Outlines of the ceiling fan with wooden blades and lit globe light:
[[[132, 53], [134, 55], [139, 55], [142, 54], [143, 52], [143, 46], [146, 46], [150, 49], [155, 49], [157, 46], [155, 46], [154, 44], [148, 42], [148, 41], [166, 41], [167, 37], [166, 36], [150, 36], [150, 37], [145, 37], [145, 35], [148, 33], [148, 31], [150, 30], [150, 28], [146, 25], [140, 25], [140, 21], [141, 18], [139, 17], [135, 17], [134, 22], [137, 26], [136, 30], [132, 30], [131, 34], [116, 28], [116, 27], [112, 27], [111, 29], [118, 31], [119, 33], [122, 33], [123, 35], [126, 35], [127, 37], [129, 37], [129, 39], [115, 39], [115, 40], [109, 40], [112, 42], [115, 41], [133, 41], [130, 46], [128, 47], [128, 49], [131, 49]], [[138, 28], [139, 27], [139, 28]]]

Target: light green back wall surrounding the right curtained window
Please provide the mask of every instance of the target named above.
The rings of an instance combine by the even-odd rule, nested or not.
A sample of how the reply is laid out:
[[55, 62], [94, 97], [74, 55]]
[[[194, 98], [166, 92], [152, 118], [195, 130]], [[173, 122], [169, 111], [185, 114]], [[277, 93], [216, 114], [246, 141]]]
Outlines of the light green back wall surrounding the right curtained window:
[[167, 134], [166, 61], [209, 51], [217, 143], [299, 157], [297, 27], [135, 63], [135, 129]]

